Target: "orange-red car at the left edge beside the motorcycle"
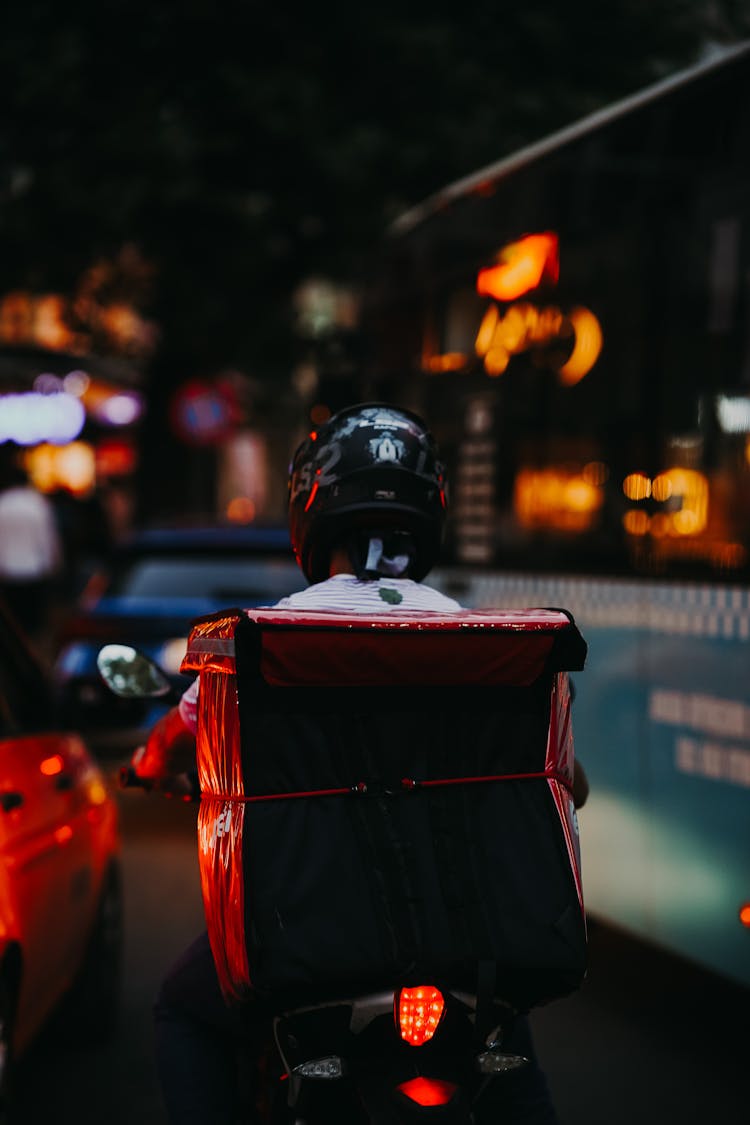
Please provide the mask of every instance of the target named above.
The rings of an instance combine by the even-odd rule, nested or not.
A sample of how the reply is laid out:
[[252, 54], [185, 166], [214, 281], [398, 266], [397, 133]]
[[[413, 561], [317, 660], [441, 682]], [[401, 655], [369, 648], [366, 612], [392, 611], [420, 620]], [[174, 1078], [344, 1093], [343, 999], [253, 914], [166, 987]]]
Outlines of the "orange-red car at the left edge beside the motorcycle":
[[115, 1027], [121, 842], [114, 795], [0, 602], [0, 1120], [12, 1062], [53, 1016]]

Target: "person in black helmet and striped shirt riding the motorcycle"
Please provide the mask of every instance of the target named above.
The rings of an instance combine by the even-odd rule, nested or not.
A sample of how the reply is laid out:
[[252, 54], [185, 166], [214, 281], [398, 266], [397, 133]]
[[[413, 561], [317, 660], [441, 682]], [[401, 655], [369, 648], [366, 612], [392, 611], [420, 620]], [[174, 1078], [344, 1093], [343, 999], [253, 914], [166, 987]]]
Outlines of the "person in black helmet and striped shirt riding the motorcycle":
[[[310, 585], [277, 605], [460, 612], [458, 602], [423, 584], [437, 559], [445, 510], [444, 469], [422, 418], [378, 403], [338, 412], [309, 434], [292, 460], [290, 537]], [[133, 765], [141, 780], [180, 792], [175, 775], [195, 764], [197, 701], [198, 680], [136, 753]], [[577, 806], [587, 795], [580, 767], [573, 795]], [[202, 934], [165, 976], [155, 1006], [156, 1065], [173, 1125], [236, 1119], [237, 1044], [257, 1035], [252, 1002], [225, 1001]], [[518, 1022], [509, 1050], [531, 1063], [503, 1083], [501, 1119], [554, 1125], [525, 1020]]]

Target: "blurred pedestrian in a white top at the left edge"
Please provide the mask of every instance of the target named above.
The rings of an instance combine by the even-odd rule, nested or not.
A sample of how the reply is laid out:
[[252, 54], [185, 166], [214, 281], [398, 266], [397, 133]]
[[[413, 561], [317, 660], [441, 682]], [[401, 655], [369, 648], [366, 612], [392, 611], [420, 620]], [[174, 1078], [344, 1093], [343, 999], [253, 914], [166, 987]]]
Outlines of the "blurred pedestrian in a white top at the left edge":
[[44, 648], [63, 544], [53, 506], [29, 483], [16, 447], [0, 453], [0, 596], [28, 639]]

